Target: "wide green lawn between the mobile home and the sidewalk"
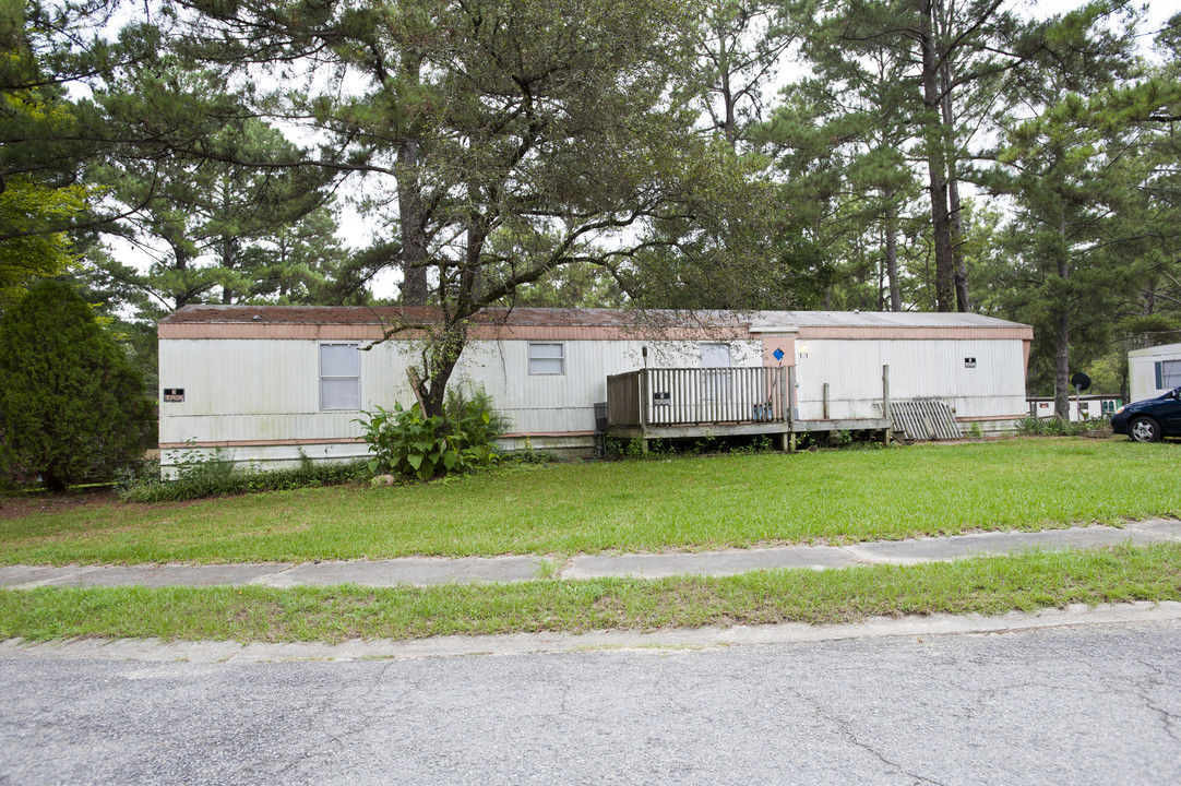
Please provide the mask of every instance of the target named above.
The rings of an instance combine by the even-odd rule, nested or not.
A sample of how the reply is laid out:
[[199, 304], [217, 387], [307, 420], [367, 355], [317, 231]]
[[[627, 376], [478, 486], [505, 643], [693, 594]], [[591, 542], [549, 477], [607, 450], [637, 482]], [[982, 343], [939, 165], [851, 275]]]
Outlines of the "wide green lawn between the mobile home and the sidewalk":
[[1181, 514], [1175, 444], [1004, 440], [515, 467], [394, 488], [0, 519], [0, 563], [573, 554], [859, 541]]

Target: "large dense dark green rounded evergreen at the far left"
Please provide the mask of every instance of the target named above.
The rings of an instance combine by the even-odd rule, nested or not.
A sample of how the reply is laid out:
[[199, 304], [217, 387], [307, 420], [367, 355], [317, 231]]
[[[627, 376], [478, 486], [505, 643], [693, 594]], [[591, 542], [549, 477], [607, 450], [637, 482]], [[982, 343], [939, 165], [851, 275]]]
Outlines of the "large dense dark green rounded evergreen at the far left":
[[141, 453], [152, 402], [123, 349], [64, 281], [33, 286], [0, 324], [0, 463], [64, 491]]

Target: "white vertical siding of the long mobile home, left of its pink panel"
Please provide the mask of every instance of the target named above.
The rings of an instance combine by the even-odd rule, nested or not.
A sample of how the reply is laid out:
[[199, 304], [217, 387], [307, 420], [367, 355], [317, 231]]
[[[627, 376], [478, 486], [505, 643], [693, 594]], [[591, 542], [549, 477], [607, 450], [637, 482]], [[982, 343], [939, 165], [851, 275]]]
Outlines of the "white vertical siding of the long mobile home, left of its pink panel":
[[[359, 353], [358, 410], [321, 410], [319, 352], [321, 344], [370, 342], [334, 338], [299, 339], [168, 339], [161, 342], [162, 388], [184, 390], [183, 402], [162, 402], [159, 441], [165, 470], [185, 450], [183, 443], [208, 452], [221, 448], [235, 461], [289, 463], [300, 452], [312, 459], [366, 455], [358, 442], [364, 433], [361, 410], [393, 409], [415, 398], [406, 377], [412, 345], [387, 342]], [[461, 356], [450, 385], [483, 386], [511, 422], [507, 447], [528, 435], [536, 447], [586, 448], [594, 433], [594, 404], [606, 400], [608, 375], [641, 368], [648, 347], [651, 366], [696, 366], [698, 340], [560, 340], [565, 372], [530, 375], [530, 340], [474, 340]], [[762, 365], [757, 340], [725, 344], [736, 366]]]

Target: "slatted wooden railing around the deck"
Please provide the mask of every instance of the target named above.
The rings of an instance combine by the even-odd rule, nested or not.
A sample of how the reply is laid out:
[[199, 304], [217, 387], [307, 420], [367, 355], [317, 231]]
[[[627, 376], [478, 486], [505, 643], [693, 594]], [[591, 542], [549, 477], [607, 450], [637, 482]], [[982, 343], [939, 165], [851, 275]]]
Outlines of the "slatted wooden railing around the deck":
[[607, 424], [783, 422], [783, 368], [641, 369], [607, 377]]

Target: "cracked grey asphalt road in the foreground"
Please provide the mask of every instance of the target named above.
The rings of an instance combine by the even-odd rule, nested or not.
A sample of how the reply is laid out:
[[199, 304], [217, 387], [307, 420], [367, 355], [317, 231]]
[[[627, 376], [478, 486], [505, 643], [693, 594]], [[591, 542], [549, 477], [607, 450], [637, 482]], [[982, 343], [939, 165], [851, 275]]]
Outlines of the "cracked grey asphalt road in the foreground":
[[399, 661], [0, 661], [0, 784], [1181, 782], [1181, 623]]

